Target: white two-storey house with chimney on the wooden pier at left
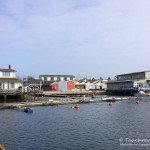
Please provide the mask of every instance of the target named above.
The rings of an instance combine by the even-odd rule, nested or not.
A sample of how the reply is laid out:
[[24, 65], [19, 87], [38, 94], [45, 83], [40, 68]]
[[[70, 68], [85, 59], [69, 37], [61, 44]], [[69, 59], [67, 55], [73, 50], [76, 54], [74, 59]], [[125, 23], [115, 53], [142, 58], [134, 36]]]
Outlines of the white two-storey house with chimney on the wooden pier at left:
[[9, 65], [8, 69], [0, 68], [0, 89], [16, 90], [21, 86], [21, 82], [16, 77], [16, 71]]

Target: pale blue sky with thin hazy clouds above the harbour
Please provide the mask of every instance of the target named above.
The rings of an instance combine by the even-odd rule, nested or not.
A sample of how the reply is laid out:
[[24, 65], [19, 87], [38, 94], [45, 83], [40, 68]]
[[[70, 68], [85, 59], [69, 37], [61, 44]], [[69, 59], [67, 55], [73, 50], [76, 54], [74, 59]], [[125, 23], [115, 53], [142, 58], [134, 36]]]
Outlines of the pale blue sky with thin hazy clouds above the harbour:
[[150, 70], [149, 0], [0, 0], [0, 68], [18, 76]]

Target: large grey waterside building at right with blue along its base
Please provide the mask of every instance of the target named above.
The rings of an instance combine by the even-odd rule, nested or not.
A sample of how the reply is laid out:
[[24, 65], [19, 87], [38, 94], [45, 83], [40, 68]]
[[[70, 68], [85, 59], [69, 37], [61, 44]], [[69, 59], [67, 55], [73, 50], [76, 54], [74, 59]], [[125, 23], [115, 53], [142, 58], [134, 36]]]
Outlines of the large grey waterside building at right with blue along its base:
[[107, 92], [131, 95], [139, 91], [150, 92], [150, 71], [121, 74], [116, 77], [117, 80], [107, 83]]

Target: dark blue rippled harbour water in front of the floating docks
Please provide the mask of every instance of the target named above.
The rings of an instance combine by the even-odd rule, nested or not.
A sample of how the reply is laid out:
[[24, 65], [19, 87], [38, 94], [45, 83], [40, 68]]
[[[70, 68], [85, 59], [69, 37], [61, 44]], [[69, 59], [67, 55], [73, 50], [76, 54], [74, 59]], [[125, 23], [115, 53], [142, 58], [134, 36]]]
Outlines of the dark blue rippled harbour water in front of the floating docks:
[[0, 143], [7, 150], [150, 148], [150, 141], [137, 141], [150, 139], [150, 99], [72, 106], [36, 107], [33, 114], [0, 110]]

